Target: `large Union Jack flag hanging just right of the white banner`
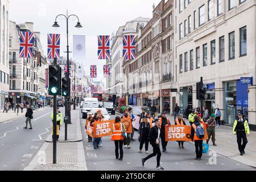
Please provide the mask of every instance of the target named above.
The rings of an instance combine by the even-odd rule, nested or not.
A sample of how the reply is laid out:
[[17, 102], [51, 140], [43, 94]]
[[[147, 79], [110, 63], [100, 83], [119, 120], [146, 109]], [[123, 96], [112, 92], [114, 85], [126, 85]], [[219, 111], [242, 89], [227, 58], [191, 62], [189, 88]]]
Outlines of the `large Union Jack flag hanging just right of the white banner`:
[[98, 35], [98, 59], [110, 59], [109, 35]]

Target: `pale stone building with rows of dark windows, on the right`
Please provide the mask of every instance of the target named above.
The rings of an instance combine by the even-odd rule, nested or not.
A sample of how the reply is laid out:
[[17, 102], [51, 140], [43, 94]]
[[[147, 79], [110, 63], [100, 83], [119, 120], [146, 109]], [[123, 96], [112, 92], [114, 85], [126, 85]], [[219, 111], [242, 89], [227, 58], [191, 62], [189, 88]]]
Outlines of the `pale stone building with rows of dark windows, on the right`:
[[175, 1], [175, 81], [181, 113], [187, 105], [199, 106], [196, 82], [202, 76], [209, 113], [219, 107], [222, 121], [232, 125], [242, 111], [255, 127], [255, 3]]

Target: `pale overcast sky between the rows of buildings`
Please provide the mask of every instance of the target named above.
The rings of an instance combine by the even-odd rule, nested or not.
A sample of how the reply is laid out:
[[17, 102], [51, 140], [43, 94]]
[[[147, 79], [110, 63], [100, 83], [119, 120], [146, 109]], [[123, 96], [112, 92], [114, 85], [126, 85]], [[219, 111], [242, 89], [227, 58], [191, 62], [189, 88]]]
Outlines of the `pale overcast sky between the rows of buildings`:
[[[160, 0], [10, 0], [9, 20], [16, 24], [34, 22], [34, 31], [40, 32], [44, 54], [47, 55], [47, 34], [61, 34], [60, 55], [67, 56], [67, 34], [65, 19], [57, 18], [59, 28], [53, 28], [55, 17], [59, 14], [75, 14], [82, 28], [75, 28], [76, 18], [69, 20], [69, 48], [73, 49], [73, 35], [85, 35], [85, 59], [76, 60], [84, 65], [89, 75], [89, 65], [97, 65], [95, 81], [104, 81], [103, 65], [105, 60], [97, 59], [97, 35], [112, 35], [119, 26], [138, 18], [152, 18], [152, 5]], [[73, 54], [70, 55], [73, 57]]]

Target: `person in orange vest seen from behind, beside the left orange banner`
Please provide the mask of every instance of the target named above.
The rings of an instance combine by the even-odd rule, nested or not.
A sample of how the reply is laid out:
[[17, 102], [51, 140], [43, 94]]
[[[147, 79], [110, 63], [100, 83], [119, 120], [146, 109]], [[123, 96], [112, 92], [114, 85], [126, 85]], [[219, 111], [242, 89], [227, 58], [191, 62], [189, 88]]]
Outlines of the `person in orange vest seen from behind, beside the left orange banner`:
[[[113, 140], [115, 143], [115, 159], [118, 160], [123, 160], [123, 129], [125, 130], [125, 126], [123, 125], [123, 123], [121, 123], [121, 118], [119, 116], [115, 117], [111, 140]], [[118, 150], [120, 150], [120, 158]]]

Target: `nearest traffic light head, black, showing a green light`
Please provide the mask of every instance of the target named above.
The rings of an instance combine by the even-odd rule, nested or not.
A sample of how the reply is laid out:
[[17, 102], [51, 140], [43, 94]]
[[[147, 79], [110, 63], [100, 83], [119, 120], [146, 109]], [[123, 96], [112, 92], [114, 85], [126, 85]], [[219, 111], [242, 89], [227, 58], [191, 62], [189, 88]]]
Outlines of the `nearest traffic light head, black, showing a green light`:
[[59, 65], [49, 65], [49, 94], [60, 96], [61, 68]]

